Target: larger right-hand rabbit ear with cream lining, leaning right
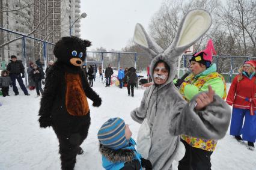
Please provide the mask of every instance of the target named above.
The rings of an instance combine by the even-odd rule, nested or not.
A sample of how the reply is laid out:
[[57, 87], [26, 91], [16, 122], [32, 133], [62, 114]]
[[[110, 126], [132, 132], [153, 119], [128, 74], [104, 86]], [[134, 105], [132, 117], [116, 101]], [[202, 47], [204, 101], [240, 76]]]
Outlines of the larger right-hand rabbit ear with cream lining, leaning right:
[[176, 52], [184, 52], [199, 40], [212, 25], [210, 13], [204, 9], [190, 10], [180, 22], [177, 34], [172, 44], [165, 53], [168, 55], [172, 49]]

